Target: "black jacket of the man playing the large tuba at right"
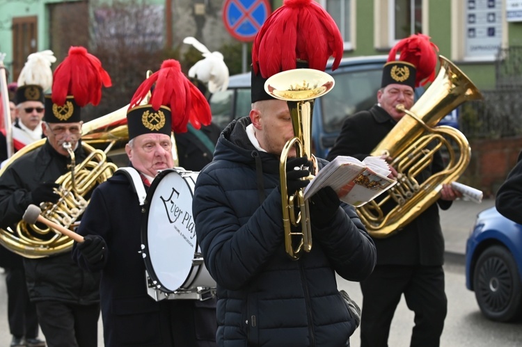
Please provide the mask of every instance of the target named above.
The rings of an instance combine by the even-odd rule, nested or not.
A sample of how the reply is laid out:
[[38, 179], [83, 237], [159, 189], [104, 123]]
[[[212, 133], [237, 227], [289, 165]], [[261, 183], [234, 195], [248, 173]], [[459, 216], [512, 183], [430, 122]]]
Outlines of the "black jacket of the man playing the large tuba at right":
[[[336, 156], [354, 156], [363, 160], [397, 124], [383, 108], [375, 105], [370, 111], [361, 111], [347, 118], [327, 159]], [[443, 168], [440, 154], [434, 156], [430, 170], [424, 170], [419, 182]], [[452, 202], [438, 200], [441, 209]], [[432, 204], [409, 225], [386, 239], [374, 239], [377, 247], [377, 264], [426, 265], [443, 264], [444, 239], [437, 204]]]

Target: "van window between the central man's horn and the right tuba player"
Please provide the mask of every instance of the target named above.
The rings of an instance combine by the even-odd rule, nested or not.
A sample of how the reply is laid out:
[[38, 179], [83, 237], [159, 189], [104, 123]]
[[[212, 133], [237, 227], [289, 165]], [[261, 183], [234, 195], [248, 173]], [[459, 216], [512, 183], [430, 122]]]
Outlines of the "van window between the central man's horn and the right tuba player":
[[377, 102], [382, 69], [333, 74], [335, 86], [322, 97], [323, 128], [338, 132], [349, 115], [368, 110]]

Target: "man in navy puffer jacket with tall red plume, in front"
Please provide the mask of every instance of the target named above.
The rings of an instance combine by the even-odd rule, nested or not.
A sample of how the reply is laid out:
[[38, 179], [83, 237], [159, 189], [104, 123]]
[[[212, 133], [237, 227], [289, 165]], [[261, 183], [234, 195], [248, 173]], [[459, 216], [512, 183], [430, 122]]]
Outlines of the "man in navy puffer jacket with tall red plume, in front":
[[349, 346], [356, 329], [335, 273], [353, 281], [370, 275], [374, 245], [354, 208], [327, 186], [311, 197], [313, 248], [288, 257], [280, 186], [289, 194], [304, 188], [310, 171], [301, 166], [310, 164], [293, 152], [280, 181], [280, 156], [294, 131], [287, 103], [264, 92], [269, 76], [298, 60], [324, 71], [332, 55], [335, 69], [342, 38], [331, 16], [315, 1], [285, 0], [255, 38], [250, 115], [228, 124], [198, 175], [192, 208], [217, 283], [218, 346]]

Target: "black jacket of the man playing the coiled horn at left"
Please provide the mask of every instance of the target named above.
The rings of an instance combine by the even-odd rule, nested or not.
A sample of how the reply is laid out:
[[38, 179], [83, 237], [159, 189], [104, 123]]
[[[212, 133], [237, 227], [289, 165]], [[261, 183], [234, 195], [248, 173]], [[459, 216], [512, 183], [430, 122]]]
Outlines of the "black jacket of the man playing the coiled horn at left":
[[[81, 146], [74, 151], [77, 163], [86, 157]], [[22, 220], [32, 202], [31, 191], [42, 182], [53, 182], [68, 172], [70, 159], [48, 142], [17, 159], [0, 177], [0, 227]], [[56, 300], [79, 305], [100, 301], [100, 274], [81, 270], [71, 252], [52, 257], [24, 258], [27, 288], [32, 301]]]

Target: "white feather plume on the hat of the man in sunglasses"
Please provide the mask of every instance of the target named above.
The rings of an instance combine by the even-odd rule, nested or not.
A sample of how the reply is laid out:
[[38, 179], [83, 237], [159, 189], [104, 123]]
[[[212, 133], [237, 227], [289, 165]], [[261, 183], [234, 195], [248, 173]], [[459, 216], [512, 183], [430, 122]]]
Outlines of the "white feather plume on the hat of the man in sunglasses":
[[27, 61], [18, 76], [18, 86], [35, 84], [49, 90], [53, 84], [51, 64], [56, 61], [53, 51], [46, 49], [29, 54]]

